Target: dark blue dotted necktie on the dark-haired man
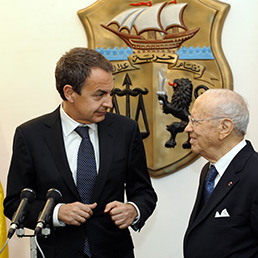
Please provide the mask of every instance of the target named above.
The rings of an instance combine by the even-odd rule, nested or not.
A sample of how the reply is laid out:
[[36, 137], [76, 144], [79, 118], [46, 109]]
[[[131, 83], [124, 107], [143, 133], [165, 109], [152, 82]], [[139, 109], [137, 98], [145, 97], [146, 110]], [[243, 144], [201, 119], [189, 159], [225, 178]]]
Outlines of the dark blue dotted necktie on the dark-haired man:
[[[83, 203], [90, 204], [97, 180], [94, 149], [89, 138], [88, 126], [78, 126], [75, 131], [82, 138], [77, 156], [77, 189]], [[85, 239], [84, 252], [91, 257], [87, 237]]]

